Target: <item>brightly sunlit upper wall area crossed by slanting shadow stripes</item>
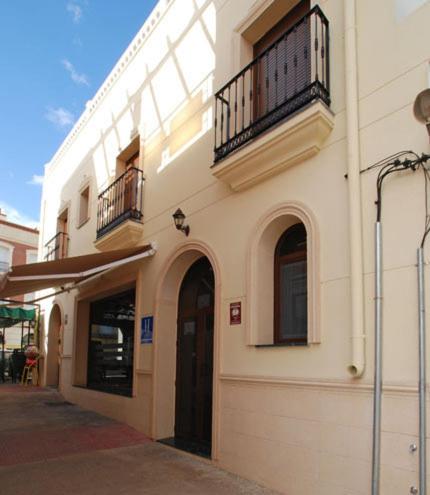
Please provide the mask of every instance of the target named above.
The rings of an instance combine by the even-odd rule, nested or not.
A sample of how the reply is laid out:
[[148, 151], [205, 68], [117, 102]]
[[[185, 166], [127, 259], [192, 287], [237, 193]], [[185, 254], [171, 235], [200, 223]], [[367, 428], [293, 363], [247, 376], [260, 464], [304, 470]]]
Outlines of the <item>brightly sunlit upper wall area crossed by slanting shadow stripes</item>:
[[[67, 162], [77, 167], [53, 170], [56, 197], [55, 183], [62, 184], [60, 210], [72, 203], [81, 183], [89, 178], [94, 181], [89, 217], [94, 219], [98, 194], [113, 182], [119, 155], [137, 137], [159, 174], [212, 129], [215, 36], [213, 2], [171, 2], [68, 149]], [[143, 160], [140, 156], [140, 168], [144, 168]], [[71, 206], [69, 224], [73, 228], [78, 223], [77, 208]], [[58, 212], [52, 211], [52, 202], [49, 210], [44, 243], [56, 233]], [[92, 232], [94, 227], [91, 225]], [[79, 254], [79, 246], [71, 248], [73, 254]]]

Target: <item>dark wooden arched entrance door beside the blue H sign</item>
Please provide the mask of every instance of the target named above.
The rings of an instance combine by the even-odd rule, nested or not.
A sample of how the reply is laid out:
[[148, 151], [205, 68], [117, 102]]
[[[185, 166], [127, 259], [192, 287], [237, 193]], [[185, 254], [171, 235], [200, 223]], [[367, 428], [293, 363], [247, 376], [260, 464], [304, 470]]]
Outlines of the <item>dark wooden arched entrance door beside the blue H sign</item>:
[[210, 454], [214, 276], [207, 258], [188, 270], [178, 308], [175, 439]]

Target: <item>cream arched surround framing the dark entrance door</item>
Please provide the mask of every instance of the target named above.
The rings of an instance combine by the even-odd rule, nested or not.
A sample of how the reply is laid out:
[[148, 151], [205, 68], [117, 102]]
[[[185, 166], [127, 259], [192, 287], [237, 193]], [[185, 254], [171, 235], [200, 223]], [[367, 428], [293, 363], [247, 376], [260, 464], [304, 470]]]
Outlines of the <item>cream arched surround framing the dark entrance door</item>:
[[[158, 405], [160, 403], [160, 390], [159, 390], [159, 377], [160, 366], [162, 365], [163, 356], [160, 355], [160, 342], [158, 325], [160, 321], [160, 314], [163, 312], [163, 307], [166, 304], [171, 304], [173, 301], [175, 304], [172, 314], [175, 315], [175, 321], [172, 322], [172, 328], [174, 328], [174, 335], [171, 337], [174, 339], [176, 345], [177, 337], [177, 325], [176, 315], [178, 313], [178, 299], [179, 291], [182, 280], [191, 267], [191, 265], [198, 258], [206, 256], [212, 265], [215, 278], [215, 301], [214, 301], [214, 342], [213, 342], [213, 377], [212, 377], [212, 391], [213, 391], [213, 403], [212, 403], [212, 459], [218, 459], [219, 452], [219, 434], [220, 434], [220, 327], [221, 327], [221, 272], [218, 260], [213, 250], [205, 243], [192, 241], [185, 242], [174, 249], [167, 257], [167, 260], [161, 270], [161, 275], [157, 285], [154, 301], [154, 341], [153, 341], [153, 374], [152, 374], [152, 437], [154, 439], [160, 439], [162, 436], [159, 434], [159, 418], [158, 418]], [[183, 258], [186, 257], [184, 260]], [[175, 266], [176, 265], [176, 266]], [[182, 266], [181, 266], [182, 265]], [[179, 268], [178, 268], [179, 266]], [[172, 274], [173, 271], [176, 273]], [[166, 284], [169, 283], [168, 278], [172, 277], [170, 283], [174, 284], [173, 292], [169, 295], [169, 300], [166, 300], [166, 291], [172, 291], [172, 288], [168, 289]], [[176, 352], [176, 351], [175, 351]], [[171, 391], [169, 391], [171, 392]], [[173, 390], [174, 392], [174, 390]], [[168, 393], [165, 391], [165, 393]]]

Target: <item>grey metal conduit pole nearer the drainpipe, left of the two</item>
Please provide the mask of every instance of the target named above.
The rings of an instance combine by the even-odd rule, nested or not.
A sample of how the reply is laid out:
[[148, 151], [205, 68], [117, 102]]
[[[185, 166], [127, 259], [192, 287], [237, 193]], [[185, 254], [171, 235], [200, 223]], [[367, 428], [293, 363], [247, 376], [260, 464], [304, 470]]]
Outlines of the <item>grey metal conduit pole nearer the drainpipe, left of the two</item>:
[[382, 227], [375, 225], [375, 379], [373, 388], [372, 495], [379, 495], [382, 399]]

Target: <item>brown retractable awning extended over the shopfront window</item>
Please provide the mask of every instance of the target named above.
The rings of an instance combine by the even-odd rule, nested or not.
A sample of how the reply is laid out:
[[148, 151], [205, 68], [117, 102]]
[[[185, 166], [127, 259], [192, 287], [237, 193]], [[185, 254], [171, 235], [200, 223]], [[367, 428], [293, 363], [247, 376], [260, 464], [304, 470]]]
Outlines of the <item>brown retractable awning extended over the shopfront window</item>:
[[155, 254], [154, 247], [147, 244], [138, 248], [16, 265], [8, 273], [0, 274], [0, 298], [62, 287], [69, 283], [77, 284], [92, 275], [153, 254]]

